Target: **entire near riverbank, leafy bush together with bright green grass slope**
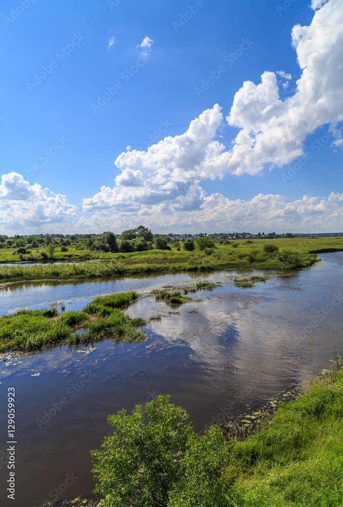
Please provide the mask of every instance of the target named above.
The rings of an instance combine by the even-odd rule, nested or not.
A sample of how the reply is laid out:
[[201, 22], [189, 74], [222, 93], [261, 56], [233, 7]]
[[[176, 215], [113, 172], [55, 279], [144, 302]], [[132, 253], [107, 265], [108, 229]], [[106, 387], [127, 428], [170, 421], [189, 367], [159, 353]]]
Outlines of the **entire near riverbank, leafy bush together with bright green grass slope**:
[[203, 435], [158, 396], [108, 418], [113, 437], [93, 451], [107, 507], [340, 507], [343, 504], [343, 370], [280, 403], [246, 438]]

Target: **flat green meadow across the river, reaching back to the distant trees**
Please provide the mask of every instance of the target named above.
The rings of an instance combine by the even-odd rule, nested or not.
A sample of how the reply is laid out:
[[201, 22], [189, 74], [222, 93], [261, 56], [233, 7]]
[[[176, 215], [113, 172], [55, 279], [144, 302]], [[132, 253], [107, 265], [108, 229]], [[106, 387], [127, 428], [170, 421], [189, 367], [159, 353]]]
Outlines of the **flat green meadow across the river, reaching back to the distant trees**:
[[[266, 245], [277, 250], [266, 252]], [[238, 245], [237, 247], [233, 245]], [[231, 244], [216, 244], [215, 249], [178, 251], [148, 250], [133, 253], [101, 253], [90, 250], [69, 249], [54, 252], [55, 262], [81, 262], [42, 266], [4, 266], [0, 268], [0, 283], [42, 279], [77, 279], [105, 277], [119, 274], [150, 272], [206, 271], [224, 268], [297, 269], [306, 268], [318, 261], [315, 251], [343, 250], [343, 237], [254, 239], [252, 242], [235, 240]], [[0, 249], [0, 262], [18, 262], [14, 249]], [[17, 259], [18, 257], [18, 259]], [[92, 262], [89, 262], [92, 260]], [[83, 261], [83, 263], [82, 263]]]

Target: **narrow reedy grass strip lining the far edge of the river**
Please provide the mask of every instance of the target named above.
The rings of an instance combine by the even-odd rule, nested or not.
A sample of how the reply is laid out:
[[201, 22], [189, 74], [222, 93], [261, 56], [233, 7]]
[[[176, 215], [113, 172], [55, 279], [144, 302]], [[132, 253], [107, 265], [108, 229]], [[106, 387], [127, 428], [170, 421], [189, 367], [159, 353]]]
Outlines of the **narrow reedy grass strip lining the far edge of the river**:
[[[284, 241], [283, 244], [280, 242]], [[290, 240], [288, 240], [289, 242]], [[315, 253], [297, 249], [299, 244], [287, 247], [286, 240], [269, 242], [267, 240], [246, 244], [244, 241], [233, 245], [219, 245], [209, 255], [205, 251], [195, 250], [149, 250], [134, 253], [104, 254], [106, 259], [96, 263], [30, 266], [4, 266], [0, 268], [0, 283], [28, 280], [65, 280], [95, 278], [120, 274], [144, 274], [153, 272], [206, 271], [223, 268], [256, 269], [296, 269], [314, 264], [318, 258]], [[277, 247], [266, 251], [268, 244]], [[304, 245], [302, 245], [304, 246]], [[310, 245], [312, 247], [312, 245]]]

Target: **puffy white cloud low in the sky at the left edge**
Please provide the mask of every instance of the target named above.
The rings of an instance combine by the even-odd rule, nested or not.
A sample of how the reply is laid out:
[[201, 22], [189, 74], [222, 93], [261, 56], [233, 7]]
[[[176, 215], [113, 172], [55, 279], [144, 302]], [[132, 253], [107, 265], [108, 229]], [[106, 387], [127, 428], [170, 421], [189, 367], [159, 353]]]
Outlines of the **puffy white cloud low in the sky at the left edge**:
[[5, 229], [39, 231], [58, 224], [68, 224], [77, 216], [77, 206], [66, 197], [42, 189], [36, 183], [30, 186], [21, 174], [10, 172], [2, 176], [0, 185], [0, 223]]

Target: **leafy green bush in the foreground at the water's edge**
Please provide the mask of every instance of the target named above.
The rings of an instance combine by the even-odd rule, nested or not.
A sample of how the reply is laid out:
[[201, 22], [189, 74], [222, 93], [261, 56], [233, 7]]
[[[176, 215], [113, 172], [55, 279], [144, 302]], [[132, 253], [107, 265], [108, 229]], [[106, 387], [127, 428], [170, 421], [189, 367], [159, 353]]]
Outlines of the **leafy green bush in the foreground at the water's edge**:
[[[228, 475], [221, 474], [229, 445], [218, 426], [203, 435], [186, 424], [188, 413], [170, 396], [136, 405], [132, 415], [109, 416], [114, 427], [102, 449], [92, 451], [107, 507], [189, 507], [231, 504]], [[149, 422], [146, 424], [147, 418]]]

